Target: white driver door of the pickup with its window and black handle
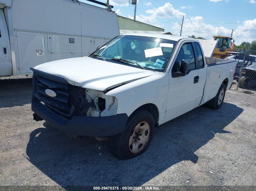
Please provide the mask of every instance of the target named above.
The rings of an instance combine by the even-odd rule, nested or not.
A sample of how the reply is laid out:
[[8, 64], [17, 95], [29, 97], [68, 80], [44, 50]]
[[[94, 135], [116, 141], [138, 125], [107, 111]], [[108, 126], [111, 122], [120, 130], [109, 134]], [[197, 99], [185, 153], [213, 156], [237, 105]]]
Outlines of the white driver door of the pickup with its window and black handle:
[[[178, 72], [181, 60], [189, 63], [187, 75], [173, 77], [172, 72]], [[166, 102], [166, 114], [164, 123], [178, 117], [192, 109], [196, 100], [199, 70], [195, 68], [195, 54], [192, 43], [183, 43], [176, 55], [175, 63], [172, 64], [169, 72], [169, 91]]]

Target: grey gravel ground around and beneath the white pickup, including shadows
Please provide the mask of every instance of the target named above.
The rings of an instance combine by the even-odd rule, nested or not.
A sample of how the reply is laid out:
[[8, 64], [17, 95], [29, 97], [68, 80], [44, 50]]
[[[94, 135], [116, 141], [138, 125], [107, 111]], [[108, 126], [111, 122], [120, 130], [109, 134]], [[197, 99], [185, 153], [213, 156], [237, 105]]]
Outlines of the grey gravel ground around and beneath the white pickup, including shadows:
[[[14, 77], [15, 78], [15, 77]], [[156, 129], [148, 150], [119, 161], [108, 141], [70, 140], [32, 119], [32, 78], [0, 78], [0, 185], [256, 186], [256, 95], [227, 91]]]

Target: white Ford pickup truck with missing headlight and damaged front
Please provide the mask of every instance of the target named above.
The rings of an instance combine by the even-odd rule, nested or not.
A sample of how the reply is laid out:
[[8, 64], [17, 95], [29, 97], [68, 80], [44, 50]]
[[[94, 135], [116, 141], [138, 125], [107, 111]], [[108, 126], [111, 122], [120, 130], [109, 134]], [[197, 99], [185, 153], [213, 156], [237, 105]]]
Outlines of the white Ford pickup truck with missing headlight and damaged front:
[[205, 58], [196, 39], [119, 35], [88, 57], [31, 68], [33, 116], [68, 135], [109, 136], [115, 157], [133, 158], [158, 125], [204, 103], [220, 108], [236, 64]]

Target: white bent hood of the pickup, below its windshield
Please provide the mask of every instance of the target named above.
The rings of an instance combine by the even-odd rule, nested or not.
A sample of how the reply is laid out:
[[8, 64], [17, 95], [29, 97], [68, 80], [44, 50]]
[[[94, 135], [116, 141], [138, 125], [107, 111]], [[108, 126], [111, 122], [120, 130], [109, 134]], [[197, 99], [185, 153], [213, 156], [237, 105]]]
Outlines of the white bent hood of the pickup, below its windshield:
[[34, 68], [77, 82], [82, 88], [99, 91], [105, 91], [155, 73], [90, 57], [56, 60], [37, 65]]

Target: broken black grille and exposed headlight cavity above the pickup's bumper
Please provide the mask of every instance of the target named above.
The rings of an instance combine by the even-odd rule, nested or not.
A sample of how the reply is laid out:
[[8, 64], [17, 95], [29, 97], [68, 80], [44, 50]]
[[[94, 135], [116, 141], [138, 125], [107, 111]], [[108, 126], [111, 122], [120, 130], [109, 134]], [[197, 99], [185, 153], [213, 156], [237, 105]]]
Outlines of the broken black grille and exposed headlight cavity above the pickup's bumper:
[[[60, 116], [112, 116], [117, 113], [117, 99], [104, 92], [81, 88], [78, 83], [42, 72], [33, 75], [33, 95]], [[54, 92], [54, 96], [48, 95]]]

